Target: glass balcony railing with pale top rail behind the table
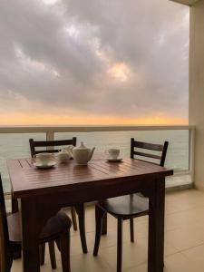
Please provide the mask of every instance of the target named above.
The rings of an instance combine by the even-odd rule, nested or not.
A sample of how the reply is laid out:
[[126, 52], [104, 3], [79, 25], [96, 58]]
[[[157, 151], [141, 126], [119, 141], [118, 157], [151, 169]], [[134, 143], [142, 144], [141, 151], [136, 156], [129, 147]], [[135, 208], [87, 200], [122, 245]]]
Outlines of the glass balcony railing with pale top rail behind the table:
[[175, 170], [168, 186], [192, 186], [194, 175], [195, 126], [12, 126], [0, 127], [0, 171], [5, 191], [9, 191], [9, 179], [5, 161], [29, 157], [28, 139], [52, 141], [77, 137], [96, 151], [110, 147], [121, 148], [121, 156], [130, 156], [130, 139], [162, 143], [169, 141], [166, 166]]

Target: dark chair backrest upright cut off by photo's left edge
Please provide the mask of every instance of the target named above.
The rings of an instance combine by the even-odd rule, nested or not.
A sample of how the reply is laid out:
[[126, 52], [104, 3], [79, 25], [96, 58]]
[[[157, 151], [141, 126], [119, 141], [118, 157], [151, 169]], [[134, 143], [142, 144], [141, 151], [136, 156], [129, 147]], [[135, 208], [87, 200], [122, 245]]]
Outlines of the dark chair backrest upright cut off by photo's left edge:
[[0, 271], [8, 271], [9, 236], [5, 211], [5, 195], [0, 176]]

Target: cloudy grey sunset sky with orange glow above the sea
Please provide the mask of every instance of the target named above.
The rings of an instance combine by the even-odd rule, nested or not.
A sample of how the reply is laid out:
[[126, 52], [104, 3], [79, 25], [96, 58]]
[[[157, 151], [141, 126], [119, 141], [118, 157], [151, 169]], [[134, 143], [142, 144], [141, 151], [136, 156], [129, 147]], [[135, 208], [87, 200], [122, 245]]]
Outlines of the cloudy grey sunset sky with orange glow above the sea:
[[188, 6], [0, 0], [0, 39], [0, 125], [188, 123]]

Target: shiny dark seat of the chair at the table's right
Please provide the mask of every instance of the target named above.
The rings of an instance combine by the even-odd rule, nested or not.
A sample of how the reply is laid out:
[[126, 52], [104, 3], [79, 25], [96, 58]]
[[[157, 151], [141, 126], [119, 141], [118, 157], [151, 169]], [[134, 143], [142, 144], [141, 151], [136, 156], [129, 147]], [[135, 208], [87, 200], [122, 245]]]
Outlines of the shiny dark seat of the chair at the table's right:
[[115, 217], [123, 219], [140, 217], [149, 212], [149, 199], [143, 198], [137, 194], [105, 199], [97, 203], [99, 207], [111, 213]]

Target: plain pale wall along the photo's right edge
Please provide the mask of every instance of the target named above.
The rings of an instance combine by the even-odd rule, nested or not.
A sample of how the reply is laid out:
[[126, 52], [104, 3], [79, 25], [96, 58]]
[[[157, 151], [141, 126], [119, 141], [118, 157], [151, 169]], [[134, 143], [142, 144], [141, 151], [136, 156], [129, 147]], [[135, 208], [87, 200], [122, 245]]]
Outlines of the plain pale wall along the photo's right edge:
[[195, 186], [204, 190], [204, 0], [190, 7], [189, 124], [196, 125]]

